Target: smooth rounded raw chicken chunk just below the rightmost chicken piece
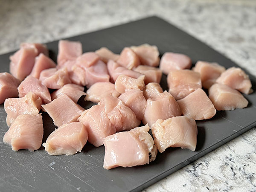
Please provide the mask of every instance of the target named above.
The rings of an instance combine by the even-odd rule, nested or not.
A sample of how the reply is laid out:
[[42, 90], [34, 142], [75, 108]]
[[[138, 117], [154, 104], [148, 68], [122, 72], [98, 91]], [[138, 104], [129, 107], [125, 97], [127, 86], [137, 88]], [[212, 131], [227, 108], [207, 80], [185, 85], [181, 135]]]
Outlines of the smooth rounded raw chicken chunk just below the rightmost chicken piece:
[[224, 84], [213, 84], [208, 90], [209, 99], [218, 111], [230, 111], [247, 107], [248, 101], [239, 91]]

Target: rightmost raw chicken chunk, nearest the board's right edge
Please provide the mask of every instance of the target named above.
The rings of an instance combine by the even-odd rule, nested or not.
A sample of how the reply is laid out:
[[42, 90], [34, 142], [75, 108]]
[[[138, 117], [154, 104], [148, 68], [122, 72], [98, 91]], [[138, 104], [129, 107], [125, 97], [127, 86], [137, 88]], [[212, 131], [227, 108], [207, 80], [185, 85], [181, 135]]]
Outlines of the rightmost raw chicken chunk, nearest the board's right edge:
[[230, 67], [221, 73], [221, 76], [216, 80], [216, 82], [225, 84], [245, 94], [253, 92], [249, 76], [247, 76], [239, 67]]

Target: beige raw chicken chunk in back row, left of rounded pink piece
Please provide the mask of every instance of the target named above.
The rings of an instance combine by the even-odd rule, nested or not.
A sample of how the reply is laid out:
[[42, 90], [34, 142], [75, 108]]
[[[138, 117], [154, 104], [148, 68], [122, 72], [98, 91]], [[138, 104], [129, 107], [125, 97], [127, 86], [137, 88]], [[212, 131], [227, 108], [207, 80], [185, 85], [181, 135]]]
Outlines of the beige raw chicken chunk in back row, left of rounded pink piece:
[[139, 56], [141, 64], [153, 67], [159, 65], [160, 58], [157, 46], [143, 44], [140, 46], [132, 46], [131, 49]]

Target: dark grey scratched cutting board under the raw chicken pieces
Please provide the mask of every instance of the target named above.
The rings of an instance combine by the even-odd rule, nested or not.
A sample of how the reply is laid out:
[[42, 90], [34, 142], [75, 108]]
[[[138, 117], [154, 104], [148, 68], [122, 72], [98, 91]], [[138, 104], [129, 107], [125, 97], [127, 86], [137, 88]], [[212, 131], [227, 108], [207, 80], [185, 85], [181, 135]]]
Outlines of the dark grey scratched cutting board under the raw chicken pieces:
[[[119, 53], [125, 46], [148, 43], [156, 45], [161, 55], [168, 51], [179, 52], [189, 55], [193, 63], [203, 60], [215, 61], [225, 67], [237, 66], [230, 59], [158, 17], [148, 17], [68, 39], [81, 41], [84, 52], [104, 46]], [[56, 61], [58, 41], [48, 43], [47, 47], [50, 56]], [[0, 55], [0, 72], [9, 71], [11, 54]], [[256, 79], [253, 76], [250, 79], [255, 90]], [[165, 84], [164, 81], [162, 83]], [[254, 127], [256, 93], [245, 97], [249, 101], [247, 108], [218, 111], [212, 119], [197, 122], [196, 151], [168, 148], [148, 165], [112, 170], [102, 168], [104, 146], [95, 148], [86, 144], [81, 153], [72, 156], [50, 156], [43, 147], [33, 153], [27, 150], [12, 151], [2, 140], [8, 127], [6, 113], [3, 105], [0, 105], [0, 191], [140, 191]], [[80, 103], [86, 108], [91, 106], [81, 99]], [[46, 113], [43, 114], [43, 120], [44, 142], [55, 126]]]

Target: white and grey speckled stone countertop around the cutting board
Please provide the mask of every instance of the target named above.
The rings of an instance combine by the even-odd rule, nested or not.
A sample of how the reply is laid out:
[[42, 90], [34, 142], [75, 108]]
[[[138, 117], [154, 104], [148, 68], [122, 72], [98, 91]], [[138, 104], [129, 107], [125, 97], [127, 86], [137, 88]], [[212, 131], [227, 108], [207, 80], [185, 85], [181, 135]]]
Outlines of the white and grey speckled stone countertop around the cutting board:
[[[255, 0], [0, 0], [0, 53], [158, 15], [256, 76]], [[255, 115], [256, 116], [256, 115]], [[256, 191], [256, 128], [145, 189]]]

